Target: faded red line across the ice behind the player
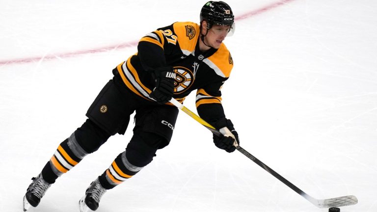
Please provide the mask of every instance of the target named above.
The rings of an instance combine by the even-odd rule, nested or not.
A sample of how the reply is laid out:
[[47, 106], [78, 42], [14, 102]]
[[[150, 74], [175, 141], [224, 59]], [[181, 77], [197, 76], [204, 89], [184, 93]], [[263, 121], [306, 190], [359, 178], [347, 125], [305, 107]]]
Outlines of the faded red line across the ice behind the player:
[[[280, 0], [275, 3], [269, 4], [265, 7], [262, 7], [257, 10], [250, 11], [248, 13], [245, 13], [241, 16], [236, 17], [236, 20], [243, 20], [250, 18], [255, 15], [259, 15], [261, 13], [267, 12], [273, 8], [276, 8], [278, 6], [287, 4], [291, 1], [294, 0]], [[102, 52], [107, 52], [107, 51], [112, 51], [115, 49], [122, 49], [126, 47], [133, 47], [136, 46], [138, 41], [130, 41], [126, 43], [122, 43], [120, 45], [114, 45], [114, 46], [108, 46], [108, 47], [103, 47], [103, 48], [98, 48], [98, 49], [93, 49], [93, 50], [82, 50], [82, 51], [77, 51], [77, 52], [72, 52], [72, 53], [60, 53], [60, 54], [49, 54], [46, 56], [35, 56], [35, 57], [25, 57], [25, 58], [19, 58], [19, 59], [10, 59], [10, 60], [0, 60], [0, 65], [7, 65], [7, 64], [14, 64], [14, 63], [28, 63], [28, 62], [35, 62], [35, 61], [40, 61], [40, 60], [49, 60], [49, 59], [55, 59], [55, 58], [67, 58], [67, 57], [73, 57], [73, 56], [78, 56], [78, 55], [84, 55], [84, 54], [89, 54], [89, 53], [102, 53]]]

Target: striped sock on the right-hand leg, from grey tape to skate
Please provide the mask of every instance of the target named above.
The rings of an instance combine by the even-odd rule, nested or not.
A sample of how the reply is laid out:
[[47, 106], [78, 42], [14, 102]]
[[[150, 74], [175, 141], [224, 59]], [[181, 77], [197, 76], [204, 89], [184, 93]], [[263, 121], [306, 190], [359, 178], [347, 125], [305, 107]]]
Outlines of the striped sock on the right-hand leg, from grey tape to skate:
[[101, 185], [111, 189], [134, 176], [143, 167], [131, 164], [126, 158], [126, 151], [119, 154], [110, 167], [99, 177]]

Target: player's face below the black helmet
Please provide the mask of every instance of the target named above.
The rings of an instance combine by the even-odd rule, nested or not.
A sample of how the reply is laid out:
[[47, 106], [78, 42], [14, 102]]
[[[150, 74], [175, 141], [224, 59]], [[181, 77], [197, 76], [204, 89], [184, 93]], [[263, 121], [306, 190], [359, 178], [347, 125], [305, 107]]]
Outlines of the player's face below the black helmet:
[[222, 41], [225, 39], [229, 30], [230, 26], [214, 25], [213, 27], [208, 29], [208, 33], [204, 37], [204, 39], [207, 41], [206, 44], [215, 49], [220, 48], [220, 45]]

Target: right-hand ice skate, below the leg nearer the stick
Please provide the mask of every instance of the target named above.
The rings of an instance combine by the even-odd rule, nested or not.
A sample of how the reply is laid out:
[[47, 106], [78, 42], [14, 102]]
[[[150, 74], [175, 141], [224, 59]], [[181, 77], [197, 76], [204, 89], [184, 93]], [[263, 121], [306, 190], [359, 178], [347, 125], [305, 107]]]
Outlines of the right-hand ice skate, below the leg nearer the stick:
[[93, 181], [85, 191], [79, 201], [80, 212], [91, 212], [98, 209], [102, 195], [106, 192], [106, 188], [102, 187], [98, 178]]

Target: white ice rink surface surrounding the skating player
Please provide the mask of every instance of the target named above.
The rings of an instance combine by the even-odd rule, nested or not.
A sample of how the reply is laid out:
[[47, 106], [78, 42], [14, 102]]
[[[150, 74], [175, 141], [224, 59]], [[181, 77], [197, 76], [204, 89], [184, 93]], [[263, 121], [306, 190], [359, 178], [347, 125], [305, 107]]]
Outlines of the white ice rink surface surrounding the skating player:
[[[376, 212], [377, 1], [227, 2], [243, 18], [225, 40], [235, 67], [223, 105], [242, 147], [317, 199], [355, 195], [359, 203], [342, 212]], [[0, 212], [22, 210], [30, 178], [81, 126], [135, 42], [198, 22], [204, 3], [0, 1]], [[193, 95], [185, 106], [195, 111]], [[58, 179], [34, 211], [78, 211], [132, 127]], [[107, 192], [98, 212], [327, 212], [239, 152], [217, 149], [184, 113], [157, 155]]]

